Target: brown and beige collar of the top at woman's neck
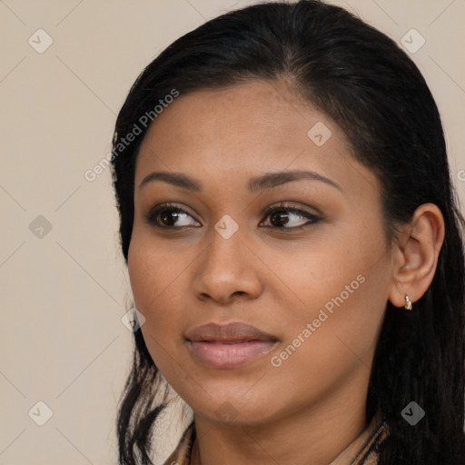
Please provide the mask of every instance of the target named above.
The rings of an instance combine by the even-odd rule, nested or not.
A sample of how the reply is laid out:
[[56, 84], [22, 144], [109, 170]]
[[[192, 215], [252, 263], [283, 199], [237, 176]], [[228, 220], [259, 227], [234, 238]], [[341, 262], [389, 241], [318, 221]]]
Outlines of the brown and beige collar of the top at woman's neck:
[[[381, 422], [379, 417], [373, 417], [370, 425], [361, 432], [332, 460], [329, 465], [376, 465], [378, 454], [375, 446], [380, 444], [388, 436], [386, 423]], [[163, 465], [198, 465], [199, 450], [195, 440], [195, 425], [192, 422], [183, 433], [183, 437], [173, 453], [164, 461]], [[192, 461], [191, 461], [192, 460]], [[365, 461], [363, 461], [365, 460]]]

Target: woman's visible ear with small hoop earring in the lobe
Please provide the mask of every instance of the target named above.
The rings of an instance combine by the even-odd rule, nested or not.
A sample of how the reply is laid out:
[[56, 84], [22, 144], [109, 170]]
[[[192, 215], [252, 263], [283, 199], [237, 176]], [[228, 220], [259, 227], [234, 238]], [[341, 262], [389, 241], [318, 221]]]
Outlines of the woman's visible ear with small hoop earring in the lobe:
[[428, 290], [436, 272], [444, 241], [444, 218], [433, 203], [423, 203], [411, 223], [401, 228], [392, 250], [392, 283], [389, 300], [395, 307], [405, 305], [405, 296], [416, 302]]

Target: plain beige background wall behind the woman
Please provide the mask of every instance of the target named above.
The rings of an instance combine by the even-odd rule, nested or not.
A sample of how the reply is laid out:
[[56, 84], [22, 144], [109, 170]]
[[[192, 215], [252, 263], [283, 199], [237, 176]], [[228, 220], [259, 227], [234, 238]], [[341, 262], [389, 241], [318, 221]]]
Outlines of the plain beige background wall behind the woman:
[[[115, 115], [143, 66], [206, 19], [253, 3], [0, 0], [0, 463], [116, 463], [130, 290], [109, 170], [94, 182], [84, 172], [108, 153]], [[411, 28], [426, 39], [411, 56], [439, 104], [463, 204], [465, 3], [332, 3], [399, 43]], [[39, 28], [54, 41], [42, 54], [28, 43], [39, 42]], [[42, 238], [29, 226], [41, 225], [39, 215], [52, 225]], [[53, 411], [44, 426], [32, 420], [45, 418], [37, 401]], [[161, 459], [183, 427], [165, 422], [173, 430]]]

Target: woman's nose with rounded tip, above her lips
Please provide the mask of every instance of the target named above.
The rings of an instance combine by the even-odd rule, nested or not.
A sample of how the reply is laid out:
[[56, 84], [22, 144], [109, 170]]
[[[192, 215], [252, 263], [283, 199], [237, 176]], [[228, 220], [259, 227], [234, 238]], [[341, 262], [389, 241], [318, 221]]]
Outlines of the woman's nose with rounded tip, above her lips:
[[198, 259], [193, 292], [201, 301], [221, 304], [256, 299], [262, 293], [260, 261], [243, 242], [242, 234], [229, 239], [212, 231], [212, 240]]

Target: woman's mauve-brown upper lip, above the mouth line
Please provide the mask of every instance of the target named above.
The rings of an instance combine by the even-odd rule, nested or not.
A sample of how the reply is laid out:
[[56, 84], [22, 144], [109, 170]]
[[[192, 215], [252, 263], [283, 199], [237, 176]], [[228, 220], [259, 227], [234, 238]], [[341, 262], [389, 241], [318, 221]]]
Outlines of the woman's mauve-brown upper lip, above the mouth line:
[[185, 336], [189, 341], [277, 341], [272, 334], [243, 322], [203, 324], [188, 331]]

